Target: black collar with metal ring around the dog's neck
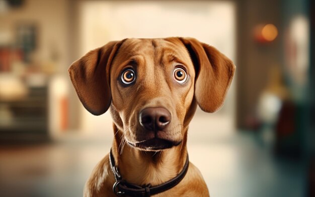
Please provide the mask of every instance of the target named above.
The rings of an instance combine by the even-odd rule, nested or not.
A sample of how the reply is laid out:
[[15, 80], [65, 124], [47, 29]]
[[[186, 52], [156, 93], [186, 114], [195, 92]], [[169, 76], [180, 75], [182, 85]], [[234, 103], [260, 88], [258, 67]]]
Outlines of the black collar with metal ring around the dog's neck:
[[156, 193], [161, 193], [166, 191], [174, 186], [176, 186], [186, 175], [189, 166], [189, 159], [187, 154], [187, 159], [183, 170], [174, 178], [162, 183], [160, 185], [151, 186], [151, 184], [147, 185], [136, 185], [130, 182], [127, 182], [122, 178], [118, 171], [118, 167], [115, 166], [115, 159], [112, 154], [112, 150], [110, 151], [109, 162], [111, 165], [111, 169], [115, 176], [116, 182], [113, 185], [113, 191], [117, 196], [132, 196], [132, 197], [149, 197], [150, 195], [154, 195]]

